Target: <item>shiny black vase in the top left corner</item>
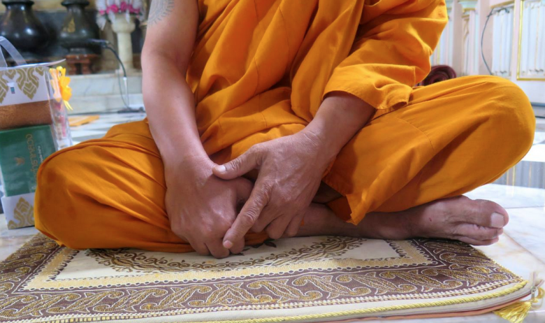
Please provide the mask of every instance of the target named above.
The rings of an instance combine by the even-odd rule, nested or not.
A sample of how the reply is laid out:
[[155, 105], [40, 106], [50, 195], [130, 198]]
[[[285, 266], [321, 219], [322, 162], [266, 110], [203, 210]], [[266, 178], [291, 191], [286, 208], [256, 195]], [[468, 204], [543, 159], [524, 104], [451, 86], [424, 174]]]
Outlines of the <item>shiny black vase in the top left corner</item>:
[[27, 53], [38, 54], [48, 45], [50, 38], [47, 29], [34, 15], [34, 1], [3, 0], [2, 3], [6, 6], [6, 13], [0, 20], [0, 36], [8, 38], [24, 56]]

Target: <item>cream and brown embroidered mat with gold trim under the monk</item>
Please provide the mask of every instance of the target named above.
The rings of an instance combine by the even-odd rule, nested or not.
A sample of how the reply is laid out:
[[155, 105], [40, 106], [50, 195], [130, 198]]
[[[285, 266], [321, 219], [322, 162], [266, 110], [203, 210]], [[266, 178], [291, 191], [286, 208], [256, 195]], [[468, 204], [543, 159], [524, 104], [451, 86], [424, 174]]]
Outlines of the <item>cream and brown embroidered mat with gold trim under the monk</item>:
[[[460, 315], [530, 294], [453, 241], [288, 238], [227, 259], [59, 247], [38, 234], [0, 264], [1, 322], [319, 322]], [[454, 313], [454, 314], [453, 314]]]

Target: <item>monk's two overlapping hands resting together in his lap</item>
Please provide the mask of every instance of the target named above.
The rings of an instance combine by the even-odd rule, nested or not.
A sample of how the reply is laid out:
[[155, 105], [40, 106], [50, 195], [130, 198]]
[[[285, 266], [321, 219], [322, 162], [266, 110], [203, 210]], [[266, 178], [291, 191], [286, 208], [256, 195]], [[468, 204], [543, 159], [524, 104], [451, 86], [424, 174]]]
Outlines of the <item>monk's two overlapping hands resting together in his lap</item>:
[[[334, 157], [320, 136], [303, 130], [256, 144], [224, 165], [208, 159], [167, 168], [170, 227], [199, 254], [217, 258], [240, 253], [250, 231], [295, 236]], [[254, 184], [242, 178], [253, 169]]]

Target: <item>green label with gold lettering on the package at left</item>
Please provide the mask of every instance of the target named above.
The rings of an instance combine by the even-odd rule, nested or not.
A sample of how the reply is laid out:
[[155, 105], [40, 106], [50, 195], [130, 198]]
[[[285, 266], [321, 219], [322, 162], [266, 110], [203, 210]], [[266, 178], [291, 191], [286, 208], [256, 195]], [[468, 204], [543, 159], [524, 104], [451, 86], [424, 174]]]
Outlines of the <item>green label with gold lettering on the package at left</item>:
[[0, 169], [6, 196], [36, 191], [36, 173], [55, 152], [49, 125], [0, 131]]

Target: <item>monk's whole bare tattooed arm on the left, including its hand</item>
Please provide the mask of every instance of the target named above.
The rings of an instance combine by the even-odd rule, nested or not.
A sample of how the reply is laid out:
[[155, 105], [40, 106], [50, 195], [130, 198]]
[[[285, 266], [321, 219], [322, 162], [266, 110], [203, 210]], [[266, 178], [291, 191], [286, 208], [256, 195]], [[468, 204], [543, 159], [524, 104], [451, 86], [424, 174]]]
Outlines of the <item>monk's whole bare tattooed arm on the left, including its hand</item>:
[[154, 0], [143, 50], [143, 92], [152, 136], [165, 166], [165, 207], [170, 229], [200, 254], [223, 258], [242, 251], [244, 238], [222, 245], [252, 183], [219, 180], [195, 120], [185, 80], [198, 25], [196, 0]]

